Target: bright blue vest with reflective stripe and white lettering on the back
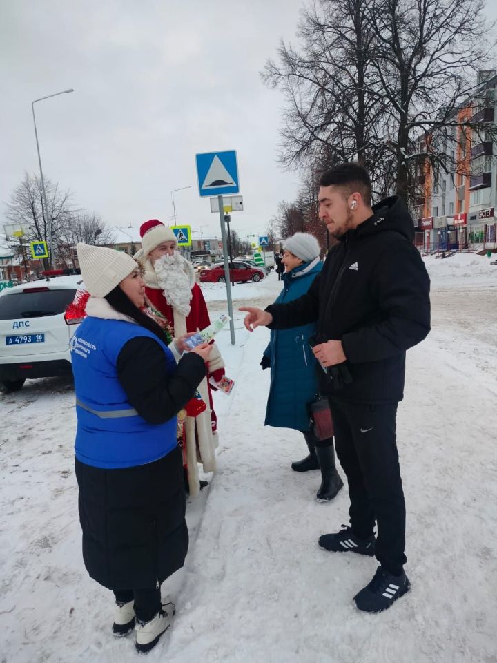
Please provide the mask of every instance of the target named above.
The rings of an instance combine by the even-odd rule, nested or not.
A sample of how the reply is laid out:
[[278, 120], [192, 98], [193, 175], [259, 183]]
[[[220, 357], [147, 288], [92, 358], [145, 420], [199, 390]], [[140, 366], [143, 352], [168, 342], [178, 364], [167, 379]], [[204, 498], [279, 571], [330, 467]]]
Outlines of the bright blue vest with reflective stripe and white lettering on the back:
[[148, 423], [128, 402], [117, 376], [122, 347], [140, 336], [153, 338], [164, 350], [168, 372], [173, 353], [148, 329], [122, 320], [85, 318], [70, 342], [75, 376], [76, 457], [97, 468], [130, 468], [152, 463], [177, 445], [174, 416], [159, 425]]

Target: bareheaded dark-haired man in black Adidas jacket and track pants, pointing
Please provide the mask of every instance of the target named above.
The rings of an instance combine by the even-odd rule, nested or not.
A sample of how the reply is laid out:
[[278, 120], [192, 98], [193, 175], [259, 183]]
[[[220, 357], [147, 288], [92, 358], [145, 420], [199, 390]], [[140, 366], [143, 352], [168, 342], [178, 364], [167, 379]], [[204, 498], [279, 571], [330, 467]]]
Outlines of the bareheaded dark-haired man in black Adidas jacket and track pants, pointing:
[[360, 610], [380, 612], [409, 590], [396, 413], [405, 352], [430, 328], [429, 277], [402, 200], [392, 196], [371, 207], [371, 182], [362, 166], [341, 164], [323, 173], [319, 203], [321, 220], [339, 242], [307, 294], [265, 311], [240, 310], [249, 311], [250, 331], [318, 321], [311, 343], [326, 370], [320, 386], [329, 398], [351, 500], [351, 525], [322, 535], [319, 544], [376, 555], [380, 566], [354, 600]]

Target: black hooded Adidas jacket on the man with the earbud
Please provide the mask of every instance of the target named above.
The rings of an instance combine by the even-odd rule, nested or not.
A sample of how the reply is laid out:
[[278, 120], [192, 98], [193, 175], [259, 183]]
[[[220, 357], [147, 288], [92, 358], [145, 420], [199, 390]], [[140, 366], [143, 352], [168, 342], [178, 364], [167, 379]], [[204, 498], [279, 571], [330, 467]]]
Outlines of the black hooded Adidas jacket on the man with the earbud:
[[266, 308], [272, 329], [318, 321], [320, 340], [341, 340], [352, 381], [321, 374], [321, 391], [346, 401], [401, 401], [405, 352], [430, 329], [429, 276], [409, 212], [396, 196], [348, 231], [328, 253], [309, 292]]

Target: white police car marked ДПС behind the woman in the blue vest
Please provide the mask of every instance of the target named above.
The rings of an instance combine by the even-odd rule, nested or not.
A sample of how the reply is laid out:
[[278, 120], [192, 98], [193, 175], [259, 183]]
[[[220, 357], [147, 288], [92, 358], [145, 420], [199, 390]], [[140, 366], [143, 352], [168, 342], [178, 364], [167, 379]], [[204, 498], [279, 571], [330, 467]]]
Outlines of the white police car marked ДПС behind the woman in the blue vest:
[[26, 378], [71, 373], [69, 343], [81, 318], [66, 316], [81, 276], [22, 283], [0, 294], [0, 384], [14, 392]]

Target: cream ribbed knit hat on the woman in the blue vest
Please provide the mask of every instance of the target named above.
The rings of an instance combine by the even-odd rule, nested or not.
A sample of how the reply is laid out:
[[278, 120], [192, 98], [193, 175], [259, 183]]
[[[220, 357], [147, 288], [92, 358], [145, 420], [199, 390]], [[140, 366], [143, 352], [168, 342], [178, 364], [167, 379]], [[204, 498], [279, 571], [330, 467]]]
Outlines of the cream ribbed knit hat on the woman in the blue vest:
[[84, 285], [92, 297], [105, 297], [138, 267], [124, 251], [90, 244], [77, 244], [76, 251]]

